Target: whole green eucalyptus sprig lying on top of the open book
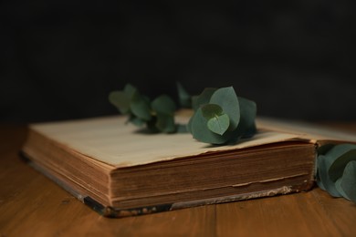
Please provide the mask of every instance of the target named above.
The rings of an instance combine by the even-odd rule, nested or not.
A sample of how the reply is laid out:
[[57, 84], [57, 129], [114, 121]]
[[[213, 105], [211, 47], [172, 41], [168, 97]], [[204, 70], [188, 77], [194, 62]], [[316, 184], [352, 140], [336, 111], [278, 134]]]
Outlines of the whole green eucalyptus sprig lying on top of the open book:
[[[194, 115], [186, 125], [194, 139], [226, 144], [252, 137], [256, 133], [256, 103], [236, 96], [235, 89], [205, 88], [199, 96], [190, 96], [181, 84], [177, 84], [178, 97], [183, 107], [194, 109]], [[174, 133], [179, 125], [174, 122], [176, 105], [172, 98], [162, 95], [153, 99], [140, 94], [137, 88], [127, 84], [123, 90], [109, 95], [112, 105], [129, 122], [144, 126], [154, 132]]]

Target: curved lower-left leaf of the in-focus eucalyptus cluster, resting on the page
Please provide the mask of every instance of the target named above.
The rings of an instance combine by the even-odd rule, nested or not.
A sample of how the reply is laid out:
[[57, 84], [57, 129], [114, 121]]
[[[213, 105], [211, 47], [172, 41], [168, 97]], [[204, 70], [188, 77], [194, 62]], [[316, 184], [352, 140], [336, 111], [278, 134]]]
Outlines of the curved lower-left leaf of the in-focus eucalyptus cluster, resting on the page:
[[207, 121], [203, 115], [202, 108], [198, 108], [190, 121], [190, 130], [194, 139], [211, 144], [224, 144], [228, 138], [208, 129]]

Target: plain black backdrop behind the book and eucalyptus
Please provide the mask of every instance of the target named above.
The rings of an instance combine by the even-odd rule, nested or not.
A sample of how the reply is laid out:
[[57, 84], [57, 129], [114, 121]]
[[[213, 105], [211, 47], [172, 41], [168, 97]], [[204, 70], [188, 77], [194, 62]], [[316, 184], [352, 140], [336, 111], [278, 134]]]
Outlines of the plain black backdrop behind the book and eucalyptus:
[[0, 118], [117, 113], [127, 82], [150, 97], [234, 86], [258, 114], [356, 119], [354, 1], [0, 3]]

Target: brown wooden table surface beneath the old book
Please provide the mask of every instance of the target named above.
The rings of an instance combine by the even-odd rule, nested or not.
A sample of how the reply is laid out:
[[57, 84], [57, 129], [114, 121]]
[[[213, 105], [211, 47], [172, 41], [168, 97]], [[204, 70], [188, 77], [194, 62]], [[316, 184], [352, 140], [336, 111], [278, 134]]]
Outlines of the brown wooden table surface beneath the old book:
[[[356, 122], [331, 126], [356, 132]], [[26, 126], [0, 126], [0, 236], [356, 236], [356, 205], [317, 187], [144, 216], [101, 217], [19, 160], [25, 139]]]

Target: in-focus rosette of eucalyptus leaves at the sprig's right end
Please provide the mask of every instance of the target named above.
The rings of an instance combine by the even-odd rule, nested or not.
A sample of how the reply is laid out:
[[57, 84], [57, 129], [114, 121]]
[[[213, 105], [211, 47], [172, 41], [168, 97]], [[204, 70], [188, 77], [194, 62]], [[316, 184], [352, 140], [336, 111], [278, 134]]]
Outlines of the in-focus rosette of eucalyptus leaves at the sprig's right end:
[[257, 132], [257, 106], [246, 98], [241, 100], [232, 87], [205, 89], [193, 98], [195, 113], [187, 130], [195, 139], [212, 144], [230, 144], [252, 137]]

